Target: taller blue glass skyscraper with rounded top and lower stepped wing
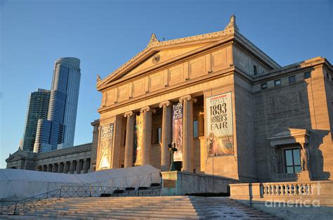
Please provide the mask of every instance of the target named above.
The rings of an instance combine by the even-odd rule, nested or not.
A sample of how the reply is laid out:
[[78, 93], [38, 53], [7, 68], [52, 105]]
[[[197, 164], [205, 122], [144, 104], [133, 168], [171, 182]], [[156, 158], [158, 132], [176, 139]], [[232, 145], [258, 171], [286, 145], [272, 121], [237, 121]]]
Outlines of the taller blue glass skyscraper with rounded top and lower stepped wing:
[[74, 144], [79, 84], [81, 78], [78, 58], [55, 61], [48, 103], [47, 119], [40, 119], [34, 152], [66, 148]]

